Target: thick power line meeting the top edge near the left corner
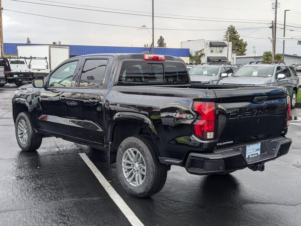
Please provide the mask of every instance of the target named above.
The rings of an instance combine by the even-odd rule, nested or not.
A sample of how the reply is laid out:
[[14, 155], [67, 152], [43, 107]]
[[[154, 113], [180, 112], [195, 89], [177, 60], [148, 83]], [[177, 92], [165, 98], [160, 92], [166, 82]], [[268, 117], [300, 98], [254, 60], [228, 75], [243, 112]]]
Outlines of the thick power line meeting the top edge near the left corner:
[[[8, 1], [23, 2], [23, 1], [20, 1], [20, 0], [8, 0]], [[98, 11], [98, 12], [106, 12], [106, 13], [116, 13], [116, 14], [126, 14], [126, 15], [135, 15], [135, 16], [151, 17], [151, 15], [134, 14], [134, 13], [122, 13], [122, 12], [105, 11], [105, 10], [96, 10], [96, 9], [86, 9], [86, 8], [77, 8], [77, 7], [71, 7], [71, 6], [51, 5], [51, 4], [37, 3], [37, 2], [24, 2], [24, 3], [38, 4], [38, 5], [48, 5], [48, 6], [55, 6], [55, 7], [62, 7], [62, 8], [82, 9], [82, 10]], [[158, 17], [158, 18], [168, 18], [168, 19], [178, 19], [178, 20], [197, 20], [197, 21], [215, 21], [215, 22], [231, 22], [231, 23], [247, 23], [247, 24], [266, 24], [266, 23], [263, 23], [263, 22], [226, 21], [226, 20], [204, 20], [204, 19], [190, 19], [190, 18], [163, 17], [163, 16], [154, 16], [154, 17]]]

